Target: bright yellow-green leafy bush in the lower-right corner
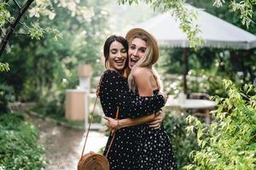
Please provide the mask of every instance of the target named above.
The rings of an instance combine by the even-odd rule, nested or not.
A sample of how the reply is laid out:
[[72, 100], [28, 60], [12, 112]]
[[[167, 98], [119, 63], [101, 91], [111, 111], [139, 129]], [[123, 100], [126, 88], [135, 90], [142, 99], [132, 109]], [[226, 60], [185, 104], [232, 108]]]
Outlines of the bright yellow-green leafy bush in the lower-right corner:
[[200, 150], [192, 152], [193, 163], [186, 169], [251, 170], [256, 168], [256, 89], [245, 85], [238, 90], [224, 81], [227, 98], [215, 97], [218, 110], [207, 125], [188, 117], [189, 132], [195, 132]]

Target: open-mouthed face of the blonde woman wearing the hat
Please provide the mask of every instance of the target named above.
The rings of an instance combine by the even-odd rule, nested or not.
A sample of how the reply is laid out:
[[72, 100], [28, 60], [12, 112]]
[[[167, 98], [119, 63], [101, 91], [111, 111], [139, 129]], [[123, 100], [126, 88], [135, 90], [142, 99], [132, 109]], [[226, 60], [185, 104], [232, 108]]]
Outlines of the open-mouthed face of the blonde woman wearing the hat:
[[131, 41], [128, 50], [130, 69], [132, 69], [139, 59], [143, 58], [146, 48], [147, 42], [141, 38], [136, 37]]

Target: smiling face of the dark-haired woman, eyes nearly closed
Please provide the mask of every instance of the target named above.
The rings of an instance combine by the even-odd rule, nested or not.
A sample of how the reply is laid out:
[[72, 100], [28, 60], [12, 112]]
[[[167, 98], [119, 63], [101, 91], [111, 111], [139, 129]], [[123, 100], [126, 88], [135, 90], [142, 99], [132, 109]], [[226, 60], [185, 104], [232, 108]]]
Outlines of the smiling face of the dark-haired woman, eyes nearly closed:
[[125, 67], [126, 59], [125, 47], [120, 42], [112, 42], [109, 48], [109, 70], [122, 71]]

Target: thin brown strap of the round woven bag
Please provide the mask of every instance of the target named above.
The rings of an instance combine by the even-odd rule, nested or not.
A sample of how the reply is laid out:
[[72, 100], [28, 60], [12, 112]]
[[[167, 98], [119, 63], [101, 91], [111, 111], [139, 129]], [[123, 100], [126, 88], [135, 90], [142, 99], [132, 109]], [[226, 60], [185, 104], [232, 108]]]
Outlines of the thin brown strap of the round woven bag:
[[[103, 75], [102, 75], [102, 77], [103, 77]], [[86, 145], [86, 142], [87, 142], [87, 139], [88, 139], [88, 134], [89, 134], [89, 131], [90, 131], [90, 125], [91, 125], [91, 122], [93, 121], [93, 115], [94, 115], [94, 111], [95, 111], [95, 108], [96, 108], [97, 99], [99, 98], [98, 94], [99, 94], [99, 88], [100, 88], [100, 86], [102, 84], [102, 77], [101, 77], [100, 82], [99, 82], [99, 84], [97, 86], [96, 99], [95, 99], [95, 102], [94, 102], [94, 105], [93, 105], [93, 109], [92, 109], [92, 113], [91, 113], [91, 116], [90, 116], [90, 123], [89, 123], [89, 127], [88, 127], [88, 130], [87, 130], [87, 133], [86, 133], [86, 137], [85, 137], [85, 140], [84, 140], [84, 147], [83, 147], [81, 158], [84, 156], [84, 148], [85, 148], [85, 145]], [[118, 107], [118, 109], [116, 111], [115, 119], [118, 119], [118, 117], [119, 117], [119, 107]], [[110, 133], [110, 134], [112, 134], [112, 133]], [[109, 150], [111, 148], [111, 145], [113, 143], [114, 136], [115, 136], [115, 133], [113, 133], [113, 138], [111, 139], [111, 142], [109, 144], [108, 151], [106, 153], [106, 157], [108, 156], [108, 152], [109, 152]]]

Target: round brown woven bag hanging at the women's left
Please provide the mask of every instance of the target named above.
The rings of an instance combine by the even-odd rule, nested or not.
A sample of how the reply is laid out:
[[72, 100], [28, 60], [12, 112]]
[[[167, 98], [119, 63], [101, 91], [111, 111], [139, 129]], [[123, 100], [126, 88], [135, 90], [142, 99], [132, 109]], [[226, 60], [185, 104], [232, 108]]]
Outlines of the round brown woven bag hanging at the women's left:
[[100, 154], [90, 152], [80, 158], [78, 170], [109, 170], [108, 159]]

